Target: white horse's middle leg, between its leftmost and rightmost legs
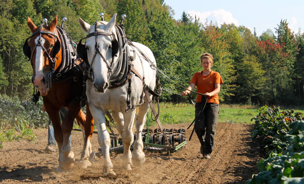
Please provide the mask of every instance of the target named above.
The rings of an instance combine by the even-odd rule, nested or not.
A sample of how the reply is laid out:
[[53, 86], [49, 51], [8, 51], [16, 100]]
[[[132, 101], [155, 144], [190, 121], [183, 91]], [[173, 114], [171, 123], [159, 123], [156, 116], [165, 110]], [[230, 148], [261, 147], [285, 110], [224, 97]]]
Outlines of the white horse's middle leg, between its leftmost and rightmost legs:
[[132, 170], [131, 162], [132, 162], [132, 154], [131, 154], [131, 144], [133, 143], [133, 121], [135, 117], [135, 110], [129, 110], [128, 112], [124, 112], [124, 131], [122, 133], [122, 141], [124, 145], [124, 153], [123, 153], [123, 161], [121, 168]]

